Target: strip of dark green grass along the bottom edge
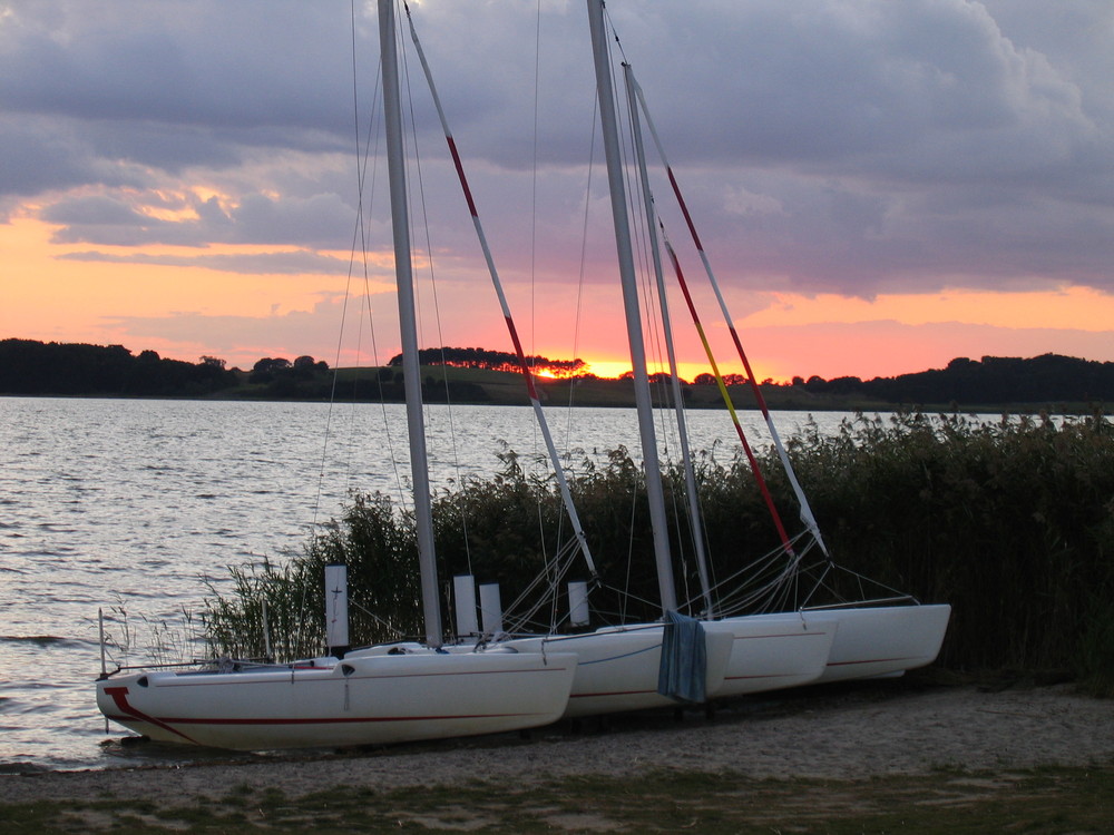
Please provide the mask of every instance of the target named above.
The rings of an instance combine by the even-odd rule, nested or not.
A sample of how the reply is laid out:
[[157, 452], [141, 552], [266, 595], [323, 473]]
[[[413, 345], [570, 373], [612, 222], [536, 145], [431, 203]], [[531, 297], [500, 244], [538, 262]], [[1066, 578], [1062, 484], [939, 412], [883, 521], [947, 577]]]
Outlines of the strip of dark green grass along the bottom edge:
[[[745, 759], [745, 752], [740, 752]], [[353, 768], [353, 770], [358, 770]], [[152, 779], [158, 779], [153, 775]], [[658, 770], [504, 785], [476, 780], [379, 792], [338, 786], [300, 797], [240, 787], [223, 798], [0, 804], [10, 835], [47, 832], [698, 832], [1105, 833], [1114, 767], [1039, 768], [862, 780], [754, 779]]]

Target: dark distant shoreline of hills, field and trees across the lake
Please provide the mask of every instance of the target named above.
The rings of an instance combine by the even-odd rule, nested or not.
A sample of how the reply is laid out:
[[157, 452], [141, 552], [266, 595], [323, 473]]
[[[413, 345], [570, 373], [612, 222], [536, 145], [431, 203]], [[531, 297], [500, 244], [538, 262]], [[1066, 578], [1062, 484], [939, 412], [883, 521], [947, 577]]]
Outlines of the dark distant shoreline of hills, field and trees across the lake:
[[[446, 353], [450, 352], [450, 353]], [[457, 352], [457, 353], [451, 353]], [[517, 371], [508, 371], [507, 357], [483, 348], [424, 350], [424, 357], [444, 357], [446, 365], [422, 367], [422, 389], [430, 402], [527, 403], [526, 389]], [[479, 360], [477, 358], [479, 357]], [[534, 357], [550, 373], [575, 373], [579, 360]], [[477, 367], [479, 366], [479, 367]], [[655, 375], [655, 396], [668, 396], [665, 375]], [[741, 407], [754, 405], [749, 385], [731, 375], [729, 391]], [[629, 406], [634, 387], [629, 379], [606, 380], [594, 375], [538, 379], [543, 399], [550, 403], [585, 406]], [[1049, 407], [1083, 411], [1114, 403], [1114, 363], [1092, 362], [1056, 354], [1029, 360], [984, 356], [960, 357], [945, 369], [895, 377], [794, 377], [791, 383], [764, 383], [763, 394], [773, 409], [887, 410], [897, 406], [930, 409]], [[707, 374], [685, 383], [683, 393], [691, 407], [719, 407], [719, 387]], [[293, 362], [265, 357], [248, 371], [226, 370], [223, 360], [202, 357], [199, 363], [164, 360], [154, 351], [133, 355], [121, 345], [42, 343], [0, 340], [0, 394], [100, 395], [148, 397], [222, 397], [256, 400], [340, 400], [400, 402], [402, 372], [382, 369], [341, 369], [334, 372], [312, 356]]]

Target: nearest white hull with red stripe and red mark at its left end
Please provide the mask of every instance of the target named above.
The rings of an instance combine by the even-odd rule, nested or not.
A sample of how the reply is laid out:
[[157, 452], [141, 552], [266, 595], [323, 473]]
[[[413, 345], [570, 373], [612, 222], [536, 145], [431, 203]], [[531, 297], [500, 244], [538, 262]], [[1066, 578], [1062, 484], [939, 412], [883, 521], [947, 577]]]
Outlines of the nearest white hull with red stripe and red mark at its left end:
[[326, 666], [153, 671], [97, 682], [109, 719], [166, 743], [240, 750], [404, 743], [547, 725], [576, 656], [426, 650]]

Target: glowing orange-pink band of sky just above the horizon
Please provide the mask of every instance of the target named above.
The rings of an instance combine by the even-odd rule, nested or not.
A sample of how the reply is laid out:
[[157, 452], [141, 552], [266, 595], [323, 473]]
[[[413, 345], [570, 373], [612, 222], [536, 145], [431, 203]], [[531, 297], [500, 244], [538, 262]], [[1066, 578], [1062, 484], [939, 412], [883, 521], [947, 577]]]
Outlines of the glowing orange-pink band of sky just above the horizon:
[[[52, 244], [50, 233], [50, 226], [29, 218], [0, 225], [0, 250], [6, 258], [0, 335], [123, 344], [135, 353], [154, 350], [189, 362], [213, 355], [241, 367], [250, 367], [263, 356], [293, 358], [306, 353], [331, 364], [335, 361], [344, 276], [229, 275], [188, 266], [65, 261], [60, 256], [89, 247]], [[183, 248], [150, 250], [165, 254], [176, 249]], [[274, 252], [275, 247], [227, 248], [233, 249]], [[390, 285], [381, 277], [372, 289], [379, 291], [374, 296], [380, 310], [377, 315], [389, 318], [394, 305]], [[458, 289], [459, 296], [455, 295]], [[472, 295], [482, 295], [480, 301], [487, 303], [467, 317], [469, 328], [452, 325], [448, 333], [442, 330], [444, 344], [508, 348], [506, 328], [488, 288], [476, 294], [468, 287], [450, 286], [442, 295], [441, 307], [452, 311], [470, 304]], [[532, 307], [545, 311], [545, 315], [519, 314], [524, 334], [531, 321], [537, 332], [532, 345], [524, 336], [529, 353], [551, 358], [567, 358], [575, 353], [588, 363], [590, 373], [604, 377], [629, 370], [617, 291], [587, 287], [579, 327], [574, 306], [567, 302], [567, 287], [536, 288], [531, 295]], [[566, 302], [558, 307], [561, 297]], [[530, 308], [529, 298], [526, 302], [521, 310]], [[691, 380], [709, 366], [698, 341], [690, 333], [692, 328], [680, 320], [684, 313], [680, 299], [672, 303], [680, 371], [682, 377]], [[955, 289], [885, 294], [869, 301], [833, 294], [776, 293], [761, 294], [759, 303], [759, 310], [736, 318], [735, 324], [760, 380], [784, 382], [794, 375], [812, 374], [824, 379], [892, 376], [941, 367], [955, 356], [978, 358], [985, 354], [1029, 356], [1055, 352], [1114, 360], [1114, 342], [1108, 338], [1114, 297], [1083, 287], [1027, 293]], [[753, 304], [752, 299], [752, 308]], [[198, 322], [211, 320], [218, 328], [225, 327], [222, 322], [228, 323], [224, 343], [215, 343], [213, 334], [203, 330], [192, 336], [188, 331], [169, 328], [167, 335], [159, 336], [154, 331], [136, 334], [125, 324], [133, 318], [173, 323], [184, 312]], [[726, 328], [713, 315], [716, 313], [710, 306], [703, 314], [716, 361], [721, 371], [741, 373]], [[304, 321], [304, 327], [299, 327], [299, 320]], [[254, 326], [243, 328], [237, 336], [237, 323], [242, 328], [244, 323]], [[274, 326], [270, 340], [268, 324]], [[438, 344], [436, 333], [424, 324], [422, 344]], [[299, 341], [299, 335], [304, 341]], [[381, 362], [397, 352], [394, 342], [379, 347]], [[651, 371], [666, 370], [661, 345], [651, 341], [648, 351]], [[369, 356], [367, 352], [360, 360], [342, 355], [340, 364], [369, 362]]]

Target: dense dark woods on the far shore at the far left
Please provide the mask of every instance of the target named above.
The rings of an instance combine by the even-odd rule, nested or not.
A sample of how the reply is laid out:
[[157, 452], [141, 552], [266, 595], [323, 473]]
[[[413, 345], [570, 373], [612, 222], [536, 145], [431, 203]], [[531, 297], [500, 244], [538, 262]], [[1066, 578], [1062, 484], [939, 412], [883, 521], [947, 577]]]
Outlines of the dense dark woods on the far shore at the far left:
[[0, 340], [0, 393], [197, 396], [238, 385], [212, 356], [199, 363], [133, 355], [123, 345]]

